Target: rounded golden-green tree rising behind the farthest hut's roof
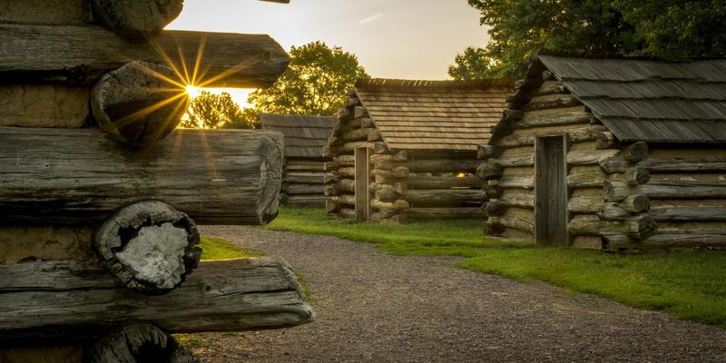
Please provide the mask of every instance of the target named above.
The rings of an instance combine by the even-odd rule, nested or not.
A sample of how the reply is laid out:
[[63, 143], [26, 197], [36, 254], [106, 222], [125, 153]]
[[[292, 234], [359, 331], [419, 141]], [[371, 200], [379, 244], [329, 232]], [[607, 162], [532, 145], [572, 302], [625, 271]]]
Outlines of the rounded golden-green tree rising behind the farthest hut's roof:
[[289, 52], [291, 62], [270, 88], [250, 93], [257, 113], [332, 115], [358, 78], [368, 77], [358, 57], [340, 47], [313, 42]]

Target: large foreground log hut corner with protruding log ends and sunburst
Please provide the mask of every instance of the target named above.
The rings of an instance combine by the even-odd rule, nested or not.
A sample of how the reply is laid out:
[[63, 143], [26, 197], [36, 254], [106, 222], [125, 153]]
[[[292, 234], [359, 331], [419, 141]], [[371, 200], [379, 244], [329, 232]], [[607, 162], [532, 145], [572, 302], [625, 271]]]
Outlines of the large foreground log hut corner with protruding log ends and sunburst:
[[169, 334], [314, 319], [284, 260], [200, 261], [197, 224], [275, 218], [283, 139], [175, 131], [185, 87], [265, 87], [289, 56], [162, 30], [182, 4], [0, 0], [0, 361], [194, 362]]

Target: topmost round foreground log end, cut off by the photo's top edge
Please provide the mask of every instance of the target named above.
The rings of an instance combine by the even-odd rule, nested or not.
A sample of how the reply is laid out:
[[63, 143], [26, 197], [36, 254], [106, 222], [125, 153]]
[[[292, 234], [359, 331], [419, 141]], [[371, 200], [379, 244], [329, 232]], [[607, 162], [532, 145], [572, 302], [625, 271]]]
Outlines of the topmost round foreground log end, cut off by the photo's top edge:
[[182, 13], [183, 0], [92, 0], [93, 18], [132, 41], [151, 40]]

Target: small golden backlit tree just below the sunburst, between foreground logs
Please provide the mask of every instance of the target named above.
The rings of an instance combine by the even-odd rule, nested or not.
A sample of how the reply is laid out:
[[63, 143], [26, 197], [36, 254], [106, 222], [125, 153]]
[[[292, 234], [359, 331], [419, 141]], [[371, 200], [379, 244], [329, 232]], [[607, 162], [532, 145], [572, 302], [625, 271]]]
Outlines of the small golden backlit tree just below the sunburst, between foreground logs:
[[182, 120], [181, 126], [201, 129], [251, 129], [249, 113], [240, 109], [234, 103], [230, 93], [214, 94], [208, 91], [191, 99], [187, 118]]

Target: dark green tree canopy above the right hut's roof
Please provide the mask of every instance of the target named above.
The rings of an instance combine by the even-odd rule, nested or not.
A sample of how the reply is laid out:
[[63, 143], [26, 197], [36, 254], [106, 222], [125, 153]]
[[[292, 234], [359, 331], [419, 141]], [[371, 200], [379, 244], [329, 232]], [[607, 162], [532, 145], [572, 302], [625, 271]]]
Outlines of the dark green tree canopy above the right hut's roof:
[[[541, 49], [684, 58], [726, 54], [726, 0], [468, 0], [490, 26], [455, 79], [520, 76]], [[481, 61], [474, 60], [480, 57]]]

